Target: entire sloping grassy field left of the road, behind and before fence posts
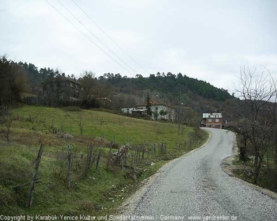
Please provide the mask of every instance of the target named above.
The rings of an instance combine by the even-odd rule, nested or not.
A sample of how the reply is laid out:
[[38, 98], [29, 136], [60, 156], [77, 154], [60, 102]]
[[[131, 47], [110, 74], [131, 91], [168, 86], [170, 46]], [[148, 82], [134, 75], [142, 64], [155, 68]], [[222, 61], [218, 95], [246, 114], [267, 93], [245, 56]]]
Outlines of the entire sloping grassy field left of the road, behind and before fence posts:
[[[99, 111], [22, 106], [13, 111], [11, 142], [0, 140], [0, 214], [16, 215], [109, 215], [139, 182], [157, 172], [168, 160], [199, 147], [204, 131], [177, 125], [145, 121]], [[64, 133], [73, 137], [64, 137]], [[112, 153], [127, 143], [127, 164], [109, 164]], [[44, 153], [39, 166], [33, 205], [26, 208], [26, 194], [33, 177], [40, 143]], [[166, 146], [166, 153], [154, 152], [154, 145]], [[68, 146], [73, 146], [71, 188], [66, 186]], [[96, 158], [84, 176], [88, 146]], [[145, 156], [136, 151], [145, 150]], [[144, 152], [143, 152], [144, 154]]]

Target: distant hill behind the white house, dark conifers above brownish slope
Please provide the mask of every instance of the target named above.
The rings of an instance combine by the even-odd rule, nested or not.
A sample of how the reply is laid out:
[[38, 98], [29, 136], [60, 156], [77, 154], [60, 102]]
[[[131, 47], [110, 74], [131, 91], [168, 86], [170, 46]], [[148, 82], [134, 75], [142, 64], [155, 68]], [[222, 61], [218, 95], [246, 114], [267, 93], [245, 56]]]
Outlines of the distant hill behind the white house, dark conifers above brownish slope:
[[145, 102], [147, 93], [150, 93], [152, 99], [159, 99], [170, 106], [178, 106], [181, 103], [193, 108], [197, 113], [222, 111], [224, 102], [233, 99], [227, 90], [215, 88], [206, 81], [181, 73], [157, 73], [150, 77], [137, 75], [136, 78], [108, 73], [98, 77], [98, 81], [108, 84], [114, 92], [110, 97], [113, 102], [102, 104], [107, 108], [140, 104]]

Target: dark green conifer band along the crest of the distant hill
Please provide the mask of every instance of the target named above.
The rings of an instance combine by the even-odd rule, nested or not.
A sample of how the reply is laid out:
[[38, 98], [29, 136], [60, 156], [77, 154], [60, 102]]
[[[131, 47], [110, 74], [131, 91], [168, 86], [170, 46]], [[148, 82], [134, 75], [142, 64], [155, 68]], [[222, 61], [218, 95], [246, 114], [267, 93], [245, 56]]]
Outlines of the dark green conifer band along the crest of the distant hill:
[[223, 88], [216, 88], [206, 81], [194, 79], [186, 75], [178, 73], [157, 73], [150, 74], [149, 77], [136, 75], [136, 77], [122, 77], [120, 73], [105, 73], [98, 77], [100, 81], [107, 81], [111, 86], [117, 88], [122, 93], [134, 93], [134, 90], [161, 90], [167, 93], [188, 93], [192, 92], [206, 99], [213, 99], [215, 101], [225, 101], [232, 96], [228, 90]]

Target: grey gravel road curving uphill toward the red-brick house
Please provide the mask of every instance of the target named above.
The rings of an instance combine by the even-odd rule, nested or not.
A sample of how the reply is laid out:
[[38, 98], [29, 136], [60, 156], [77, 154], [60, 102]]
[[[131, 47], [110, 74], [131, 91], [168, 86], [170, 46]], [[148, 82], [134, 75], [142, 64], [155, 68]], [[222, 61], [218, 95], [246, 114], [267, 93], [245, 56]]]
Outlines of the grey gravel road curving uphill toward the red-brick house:
[[121, 215], [131, 220], [277, 220], [277, 198], [222, 171], [220, 163], [233, 153], [233, 133], [205, 130], [211, 132], [209, 142], [163, 166], [125, 202]]

